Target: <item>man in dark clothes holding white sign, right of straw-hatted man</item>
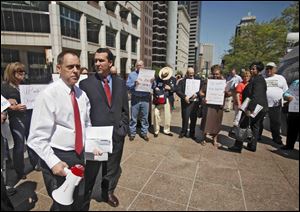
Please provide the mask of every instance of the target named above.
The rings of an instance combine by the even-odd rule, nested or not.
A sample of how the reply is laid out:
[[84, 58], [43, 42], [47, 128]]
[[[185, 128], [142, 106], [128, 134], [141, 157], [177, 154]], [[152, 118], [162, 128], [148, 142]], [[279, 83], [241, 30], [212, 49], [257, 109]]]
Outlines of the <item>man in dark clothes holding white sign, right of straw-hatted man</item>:
[[[189, 81], [195, 81], [196, 86], [189, 87]], [[195, 88], [194, 88], [195, 87]], [[190, 120], [190, 135], [189, 137], [193, 140], [195, 137], [195, 128], [197, 122], [197, 110], [199, 110], [200, 105], [200, 79], [195, 79], [195, 71], [193, 68], [188, 68], [186, 71], [186, 76], [184, 79], [180, 80], [177, 88], [176, 94], [181, 99], [181, 118], [182, 127], [179, 134], [179, 138], [187, 137], [187, 129]]]

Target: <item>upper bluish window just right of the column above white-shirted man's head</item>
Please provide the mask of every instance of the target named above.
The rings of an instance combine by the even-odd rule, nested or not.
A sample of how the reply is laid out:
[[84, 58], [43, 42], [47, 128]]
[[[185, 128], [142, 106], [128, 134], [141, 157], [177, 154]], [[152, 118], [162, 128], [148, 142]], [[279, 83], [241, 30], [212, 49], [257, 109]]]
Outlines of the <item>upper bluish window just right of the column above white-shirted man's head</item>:
[[64, 6], [60, 6], [61, 34], [80, 39], [80, 13]]

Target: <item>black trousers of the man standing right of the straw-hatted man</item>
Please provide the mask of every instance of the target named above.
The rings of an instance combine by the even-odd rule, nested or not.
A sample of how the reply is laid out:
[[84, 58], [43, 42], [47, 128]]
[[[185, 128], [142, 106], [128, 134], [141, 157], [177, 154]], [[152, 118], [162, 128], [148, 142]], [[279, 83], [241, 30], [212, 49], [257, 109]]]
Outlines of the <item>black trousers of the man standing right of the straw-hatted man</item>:
[[200, 105], [199, 102], [191, 102], [190, 104], [186, 104], [185, 102], [181, 103], [181, 118], [182, 118], [181, 134], [187, 133], [189, 120], [191, 120], [190, 135], [195, 135], [195, 128], [197, 122], [197, 110], [199, 108], [199, 105]]

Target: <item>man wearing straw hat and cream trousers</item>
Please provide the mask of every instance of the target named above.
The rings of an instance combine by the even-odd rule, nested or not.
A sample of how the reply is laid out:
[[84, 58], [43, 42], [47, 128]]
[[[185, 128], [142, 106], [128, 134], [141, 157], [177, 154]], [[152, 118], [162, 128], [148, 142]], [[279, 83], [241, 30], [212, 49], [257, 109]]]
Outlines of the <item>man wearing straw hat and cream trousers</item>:
[[159, 71], [159, 77], [153, 83], [153, 103], [154, 108], [154, 137], [159, 133], [160, 111], [164, 109], [164, 134], [173, 136], [170, 132], [171, 125], [171, 105], [174, 102], [174, 89], [176, 79], [172, 77], [173, 70], [170, 67], [164, 67]]

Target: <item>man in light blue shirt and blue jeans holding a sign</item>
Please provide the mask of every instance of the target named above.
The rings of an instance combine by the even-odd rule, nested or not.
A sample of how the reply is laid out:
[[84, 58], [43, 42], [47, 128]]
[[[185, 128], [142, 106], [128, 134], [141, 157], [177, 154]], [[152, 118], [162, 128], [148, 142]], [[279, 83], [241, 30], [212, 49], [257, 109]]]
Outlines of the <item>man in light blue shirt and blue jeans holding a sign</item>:
[[[152, 76], [149, 76], [146, 78], [148, 82], [150, 82], [150, 87], [144, 86], [145, 83], [142, 84], [142, 82], [139, 80], [139, 74], [140, 72], [146, 71], [143, 70], [144, 68], [144, 62], [142, 60], [138, 61], [136, 64], [135, 71], [131, 72], [128, 75], [128, 79], [126, 82], [126, 86], [129, 89], [131, 93], [131, 118], [130, 118], [130, 135], [129, 140], [133, 141], [136, 135], [136, 125], [137, 125], [137, 119], [139, 112], [141, 113], [141, 137], [145, 141], [149, 141], [148, 138], [148, 128], [149, 128], [149, 122], [148, 122], [148, 114], [149, 114], [149, 101], [150, 101], [150, 91], [151, 91], [151, 84], [154, 81], [154, 72], [152, 73]], [[141, 86], [142, 85], [142, 86]], [[148, 90], [141, 90], [141, 87]]]

